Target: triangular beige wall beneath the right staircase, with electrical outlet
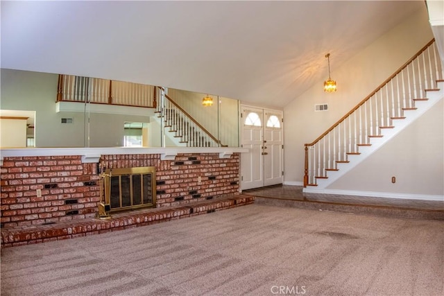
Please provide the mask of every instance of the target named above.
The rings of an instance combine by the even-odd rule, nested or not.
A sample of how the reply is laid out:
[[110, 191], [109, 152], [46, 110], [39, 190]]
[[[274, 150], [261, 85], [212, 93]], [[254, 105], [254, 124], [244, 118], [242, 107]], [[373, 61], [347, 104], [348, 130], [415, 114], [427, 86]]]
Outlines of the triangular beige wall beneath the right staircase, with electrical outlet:
[[443, 114], [441, 100], [327, 189], [444, 195]]

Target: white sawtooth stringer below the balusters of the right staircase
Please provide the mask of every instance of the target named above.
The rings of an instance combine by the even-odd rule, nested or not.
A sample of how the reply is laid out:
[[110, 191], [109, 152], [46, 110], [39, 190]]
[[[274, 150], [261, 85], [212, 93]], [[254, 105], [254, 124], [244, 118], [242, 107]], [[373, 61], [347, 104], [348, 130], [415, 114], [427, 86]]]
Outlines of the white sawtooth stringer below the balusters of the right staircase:
[[432, 108], [436, 103], [444, 98], [444, 82], [438, 82], [438, 91], [426, 92], [427, 101], [416, 101], [416, 110], [404, 110], [405, 119], [393, 120], [394, 128], [382, 128], [380, 134], [384, 137], [370, 138], [371, 146], [359, 146], [359, 155], [348, 155], [348, 163], [338, 163], [338, 171], [326, 171], [327, 178], [320, 178], [316, 180], [317, 186], [307, 186], [303, 192], [307, 193], [325, 193], [327, 186], [330, 186], [336, 180], [339, 180], [345, 173], [348, 173], [352, 168], [358, 166], [364, 159], [379, 150], [385, 143], [388, 143], [399, 132], [404, 130], [408, 125], [420, 118], [427, 110]]

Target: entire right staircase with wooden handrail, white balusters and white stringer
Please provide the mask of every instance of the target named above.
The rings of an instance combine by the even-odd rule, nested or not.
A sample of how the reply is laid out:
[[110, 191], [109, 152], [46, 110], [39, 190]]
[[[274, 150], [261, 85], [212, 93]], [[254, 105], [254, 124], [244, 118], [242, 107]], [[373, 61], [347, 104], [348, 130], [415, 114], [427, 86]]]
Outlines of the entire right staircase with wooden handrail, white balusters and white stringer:
[[320, 192], [444, 98], [434, 40], [312, 143], [305, 144], [304, 191]]

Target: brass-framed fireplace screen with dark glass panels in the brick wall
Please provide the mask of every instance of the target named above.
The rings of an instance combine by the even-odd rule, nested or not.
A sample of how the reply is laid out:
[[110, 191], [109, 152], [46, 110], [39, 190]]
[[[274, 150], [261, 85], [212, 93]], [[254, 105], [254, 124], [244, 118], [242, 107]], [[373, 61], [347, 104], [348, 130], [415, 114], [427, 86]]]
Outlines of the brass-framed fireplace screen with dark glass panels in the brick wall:
[[155, 167], [107, 169], [105, 202], [111, 212], [155, 207]]

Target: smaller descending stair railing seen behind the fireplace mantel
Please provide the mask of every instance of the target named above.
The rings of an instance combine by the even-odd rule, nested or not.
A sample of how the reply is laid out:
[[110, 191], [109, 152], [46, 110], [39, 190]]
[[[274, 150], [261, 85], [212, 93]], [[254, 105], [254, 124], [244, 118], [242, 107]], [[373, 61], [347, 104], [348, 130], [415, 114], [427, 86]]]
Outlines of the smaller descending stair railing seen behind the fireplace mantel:
[[164, 128], [173, 132], [174, 137], [180, 143], [186, 143], [187, 147], [219, 147], [221, 142], [206, 130], [200, 123], [193, 119], [185, 110], [174, 102], [164, 89], [158, 87], [163, 94], [162, 103], [157, 105], [156, 113], [164, 121]]

